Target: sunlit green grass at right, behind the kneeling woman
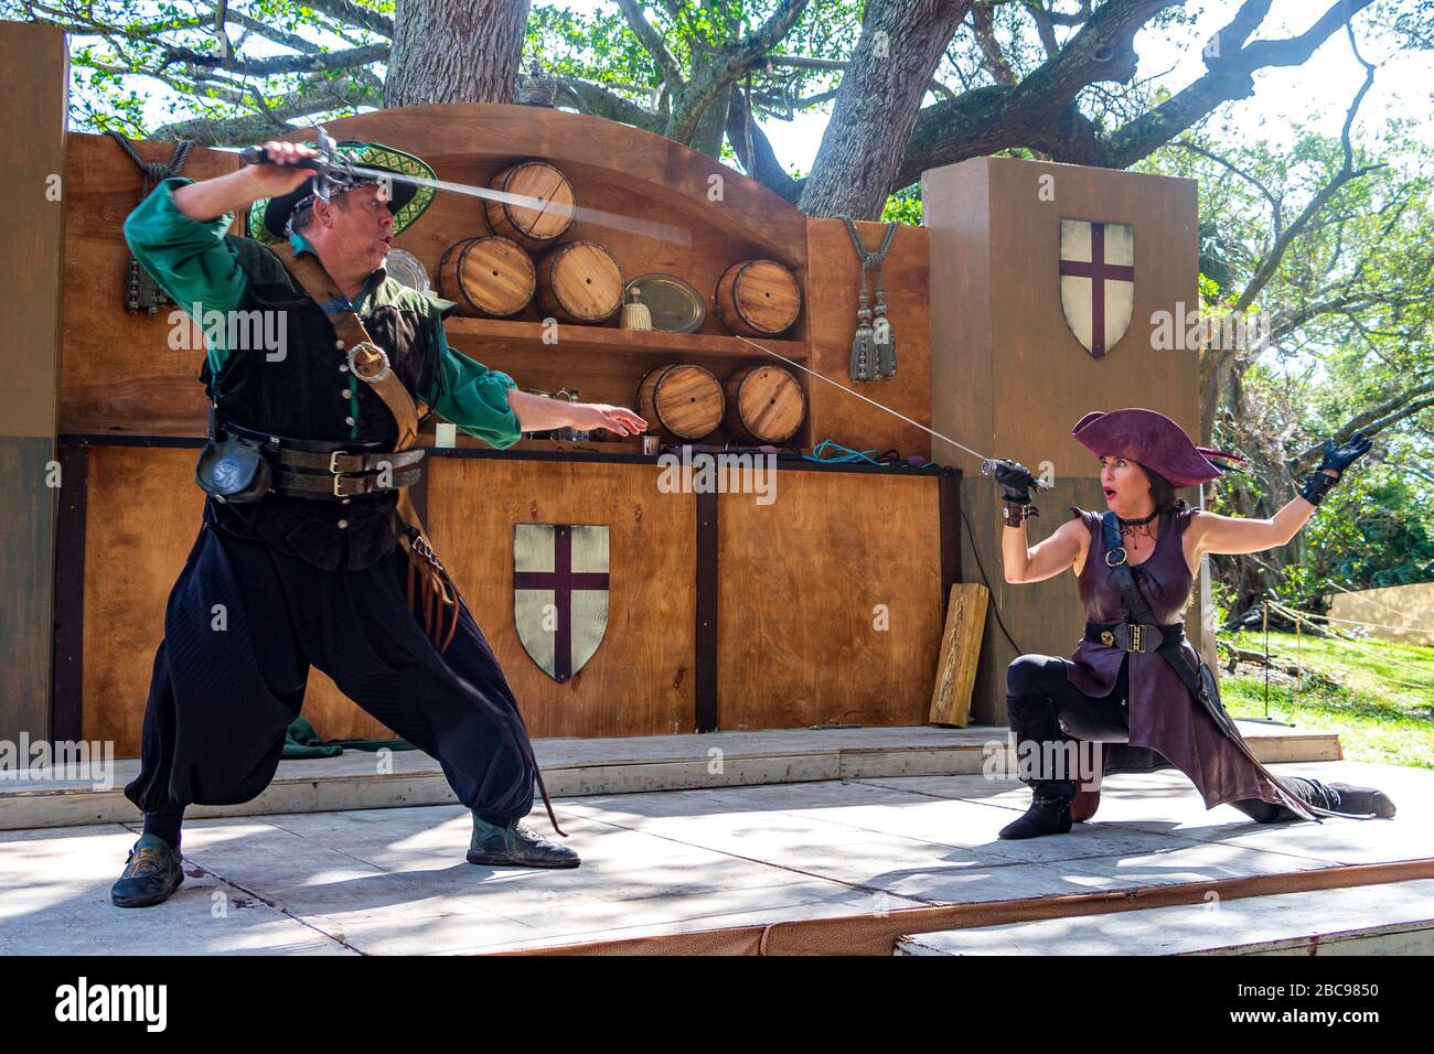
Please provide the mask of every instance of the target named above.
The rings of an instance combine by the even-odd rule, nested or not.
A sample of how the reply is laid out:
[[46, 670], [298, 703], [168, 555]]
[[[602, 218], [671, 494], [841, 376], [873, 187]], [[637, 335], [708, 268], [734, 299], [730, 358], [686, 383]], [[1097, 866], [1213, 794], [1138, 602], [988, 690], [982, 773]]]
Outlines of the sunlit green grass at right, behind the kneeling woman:
[[[1245, 631], [1222, 637], [1239, 648], [1263, 652], [1265, 635]], [[1344, 756], [1355, 761], [1434, 769], [1434, 647], [1359, 641], [1357, 644], [1302, 634], [1269, 635], [1269, 651], [1305, 670], [1328, 674], [1338, 687], [1308, 677], [1269, 674], [1269, 713], [1299, 728], [1336, 731]], [[1220, 657], [1225, 661], [1225, 655]], [[1265, 671], [1242, 664], [1220, 673], [1220, 698], [1235, 717], [1265, 717]]]

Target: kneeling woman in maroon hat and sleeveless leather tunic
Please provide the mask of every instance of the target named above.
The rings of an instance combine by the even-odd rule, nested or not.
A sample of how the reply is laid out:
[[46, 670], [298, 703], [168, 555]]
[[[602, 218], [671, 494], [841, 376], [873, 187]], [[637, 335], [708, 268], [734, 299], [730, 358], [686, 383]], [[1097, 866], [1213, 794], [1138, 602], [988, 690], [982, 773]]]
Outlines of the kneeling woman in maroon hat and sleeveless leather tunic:
[[[1021, 655], [1007, 670], [1007, 714], [1031, 807], [1004, 839], [1058, 835], [1086, 820], [1100, 777], [1174, 766], [1213, 809], [1229, 803], [1259, 823], [1318, 816], [1394, 816], [1378, 790], [1281, 777], [1255, 759], [1219, 700], [1215, 675], [1184, 638], [1195, 568], [1207, 552], [1260, 552], [1286, 543], [1324, 495], [1369, 449], [1355, 435], [1325, 442], [1324, 460], [1299, 496], [1271, 519], [1190, 509], [1174, 488], [1222, 473], [1217, 450], [1195, 446], [1164, 414], [1126, 409], [1088, 413], [1071, 433], [1100, 459], [1106, 513], [1071, 508], [1050, 538], [1027, 545], [1035, 515], [1028, 469], [998, 462], [1004, 488], [1002, 562], [1008, 582], [1040, 582], [1074, 569], [1086, 637], [1071, 658]], [[1212, 460], [1216, 459], [1216, 460]], [[1081, 740], [1103, 761], [1086, 764]]]

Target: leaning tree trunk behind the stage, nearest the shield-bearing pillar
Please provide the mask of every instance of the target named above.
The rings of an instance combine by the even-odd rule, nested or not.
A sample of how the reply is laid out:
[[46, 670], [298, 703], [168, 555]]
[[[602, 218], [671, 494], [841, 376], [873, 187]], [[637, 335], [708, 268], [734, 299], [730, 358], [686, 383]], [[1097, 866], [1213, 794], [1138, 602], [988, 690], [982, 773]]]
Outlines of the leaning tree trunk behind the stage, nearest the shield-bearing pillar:
[[869, 0], [800, 208], [878, 219], [916, 110], [971, 0]]

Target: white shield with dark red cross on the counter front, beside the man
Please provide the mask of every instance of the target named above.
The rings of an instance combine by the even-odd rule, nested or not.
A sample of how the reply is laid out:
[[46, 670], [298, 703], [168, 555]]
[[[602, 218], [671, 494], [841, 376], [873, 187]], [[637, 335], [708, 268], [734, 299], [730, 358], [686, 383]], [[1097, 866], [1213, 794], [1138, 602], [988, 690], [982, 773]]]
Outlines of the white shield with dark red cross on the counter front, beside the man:
[[513, 624], [523, 650], [562, 684], [608, 628], [608, 529], [513, 525]]

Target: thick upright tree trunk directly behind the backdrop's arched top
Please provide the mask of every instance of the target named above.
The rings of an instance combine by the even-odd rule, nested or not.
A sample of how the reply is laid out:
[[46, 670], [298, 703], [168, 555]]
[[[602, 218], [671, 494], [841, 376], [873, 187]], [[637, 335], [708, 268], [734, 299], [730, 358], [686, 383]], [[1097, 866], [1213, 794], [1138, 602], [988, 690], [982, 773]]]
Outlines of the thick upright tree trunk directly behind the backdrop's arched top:
[[529, 0], [397, 0], [384, 106], [512, 102]]

